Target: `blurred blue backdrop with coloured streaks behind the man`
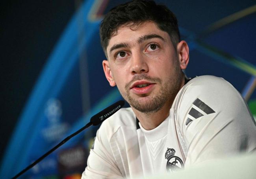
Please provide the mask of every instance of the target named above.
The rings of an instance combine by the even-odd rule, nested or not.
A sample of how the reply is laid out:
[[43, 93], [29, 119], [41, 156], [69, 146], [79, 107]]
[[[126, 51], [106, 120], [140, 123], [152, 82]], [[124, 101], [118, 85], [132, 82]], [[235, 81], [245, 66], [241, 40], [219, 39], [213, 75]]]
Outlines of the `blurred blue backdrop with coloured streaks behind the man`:
[[[120, 100], [102, 71], [99, 24], [111, 7], [126, 1], [86, 0], [52, 49], [6, 147], [0, 178], [10, 178]], [[256, 4], [245, 0], [156, 1], [177, 16], [189, 44], [189, 77], [215, 75], [236, 87], [256, 116]], [[46, 157], [21, 178], [79, 178], [97, 127]]]

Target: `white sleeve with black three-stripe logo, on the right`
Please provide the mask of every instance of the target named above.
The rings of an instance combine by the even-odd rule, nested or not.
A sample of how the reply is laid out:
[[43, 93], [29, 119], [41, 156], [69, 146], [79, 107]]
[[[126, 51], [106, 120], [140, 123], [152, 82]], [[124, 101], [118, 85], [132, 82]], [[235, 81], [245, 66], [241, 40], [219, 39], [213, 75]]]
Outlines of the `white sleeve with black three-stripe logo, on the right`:
[[222, 78], [189, 81], [176, 115], [187, 147], [186, 167], [256, 151], [255, 121], [239, 92]]

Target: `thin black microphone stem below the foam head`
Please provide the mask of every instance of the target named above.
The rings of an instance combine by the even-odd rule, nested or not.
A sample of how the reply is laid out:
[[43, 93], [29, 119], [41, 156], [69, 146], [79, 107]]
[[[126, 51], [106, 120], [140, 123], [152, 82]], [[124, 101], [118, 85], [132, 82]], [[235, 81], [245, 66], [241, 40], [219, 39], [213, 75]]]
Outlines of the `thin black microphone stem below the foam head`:
[[86, 124], [85, 126], [83, 126], [81, 129], [79, 129], [78, 131], [72, 133], [71, 135], [69, 135], [68, 137], [66, 137], [65, 139], [63, 139], [61, 142], [59, 142], [58, 145], [56, 145], [54, 148], [50, 149], [48, 152], [46, 152], [44, 155], [42, 155], [39, 159], [37, 159], [35, 162], [33, 162], [32, 164], [30, 164], [29, 166], [27, 166], [24, 170], [22, 170], [20, 173], [18, 173], [17, 175], [15, 175], [12, 179], [16, 179], [18, 178], [20, 175], [22, 175], [23, 173], [25, 173], [27, 170], [29, 170], [30, 168], [32, 168], [33, 166], [35, 166], [38, 162], [40, 162], [41, 160], [43, 160], [46, 156], [48, 156], [50, 153], [52, 153], [54, 150], [56, 150], [57, 148], [59, 148], [60, 146], [62, 146], [63, 144], [65, 144], [70, 138], [74, 137], [75, 135], [77, 135], [78, 133], [82, 132], [84, 129], [90, 127], [91, 125], [93, 125], [92, 122], [89, 122], [88, 124]]

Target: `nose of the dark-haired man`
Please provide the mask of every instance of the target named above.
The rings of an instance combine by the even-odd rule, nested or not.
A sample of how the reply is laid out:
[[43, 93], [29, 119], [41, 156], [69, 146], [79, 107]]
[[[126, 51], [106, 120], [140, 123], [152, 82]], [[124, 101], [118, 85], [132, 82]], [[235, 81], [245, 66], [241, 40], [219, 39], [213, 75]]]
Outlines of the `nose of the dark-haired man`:
[[131, 59], [131, 72], [132, 74], [140, 74], [148, 72], [147, 57], [142, 53], [135, 53]]

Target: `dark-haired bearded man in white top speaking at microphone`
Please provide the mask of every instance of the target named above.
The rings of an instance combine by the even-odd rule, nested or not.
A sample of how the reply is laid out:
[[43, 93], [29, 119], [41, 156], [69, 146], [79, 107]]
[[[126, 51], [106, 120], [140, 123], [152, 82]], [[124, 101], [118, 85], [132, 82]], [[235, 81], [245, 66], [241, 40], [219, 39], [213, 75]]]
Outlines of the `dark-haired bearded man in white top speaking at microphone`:
[[256, 150], [255, 122], [237, 90], [214, 76], [186, 79], [189, 48], [167, 7], [117, 6], [100, 37], [106, 78], [131, 107], [102, 123], [82, 178], [147, 176]]

